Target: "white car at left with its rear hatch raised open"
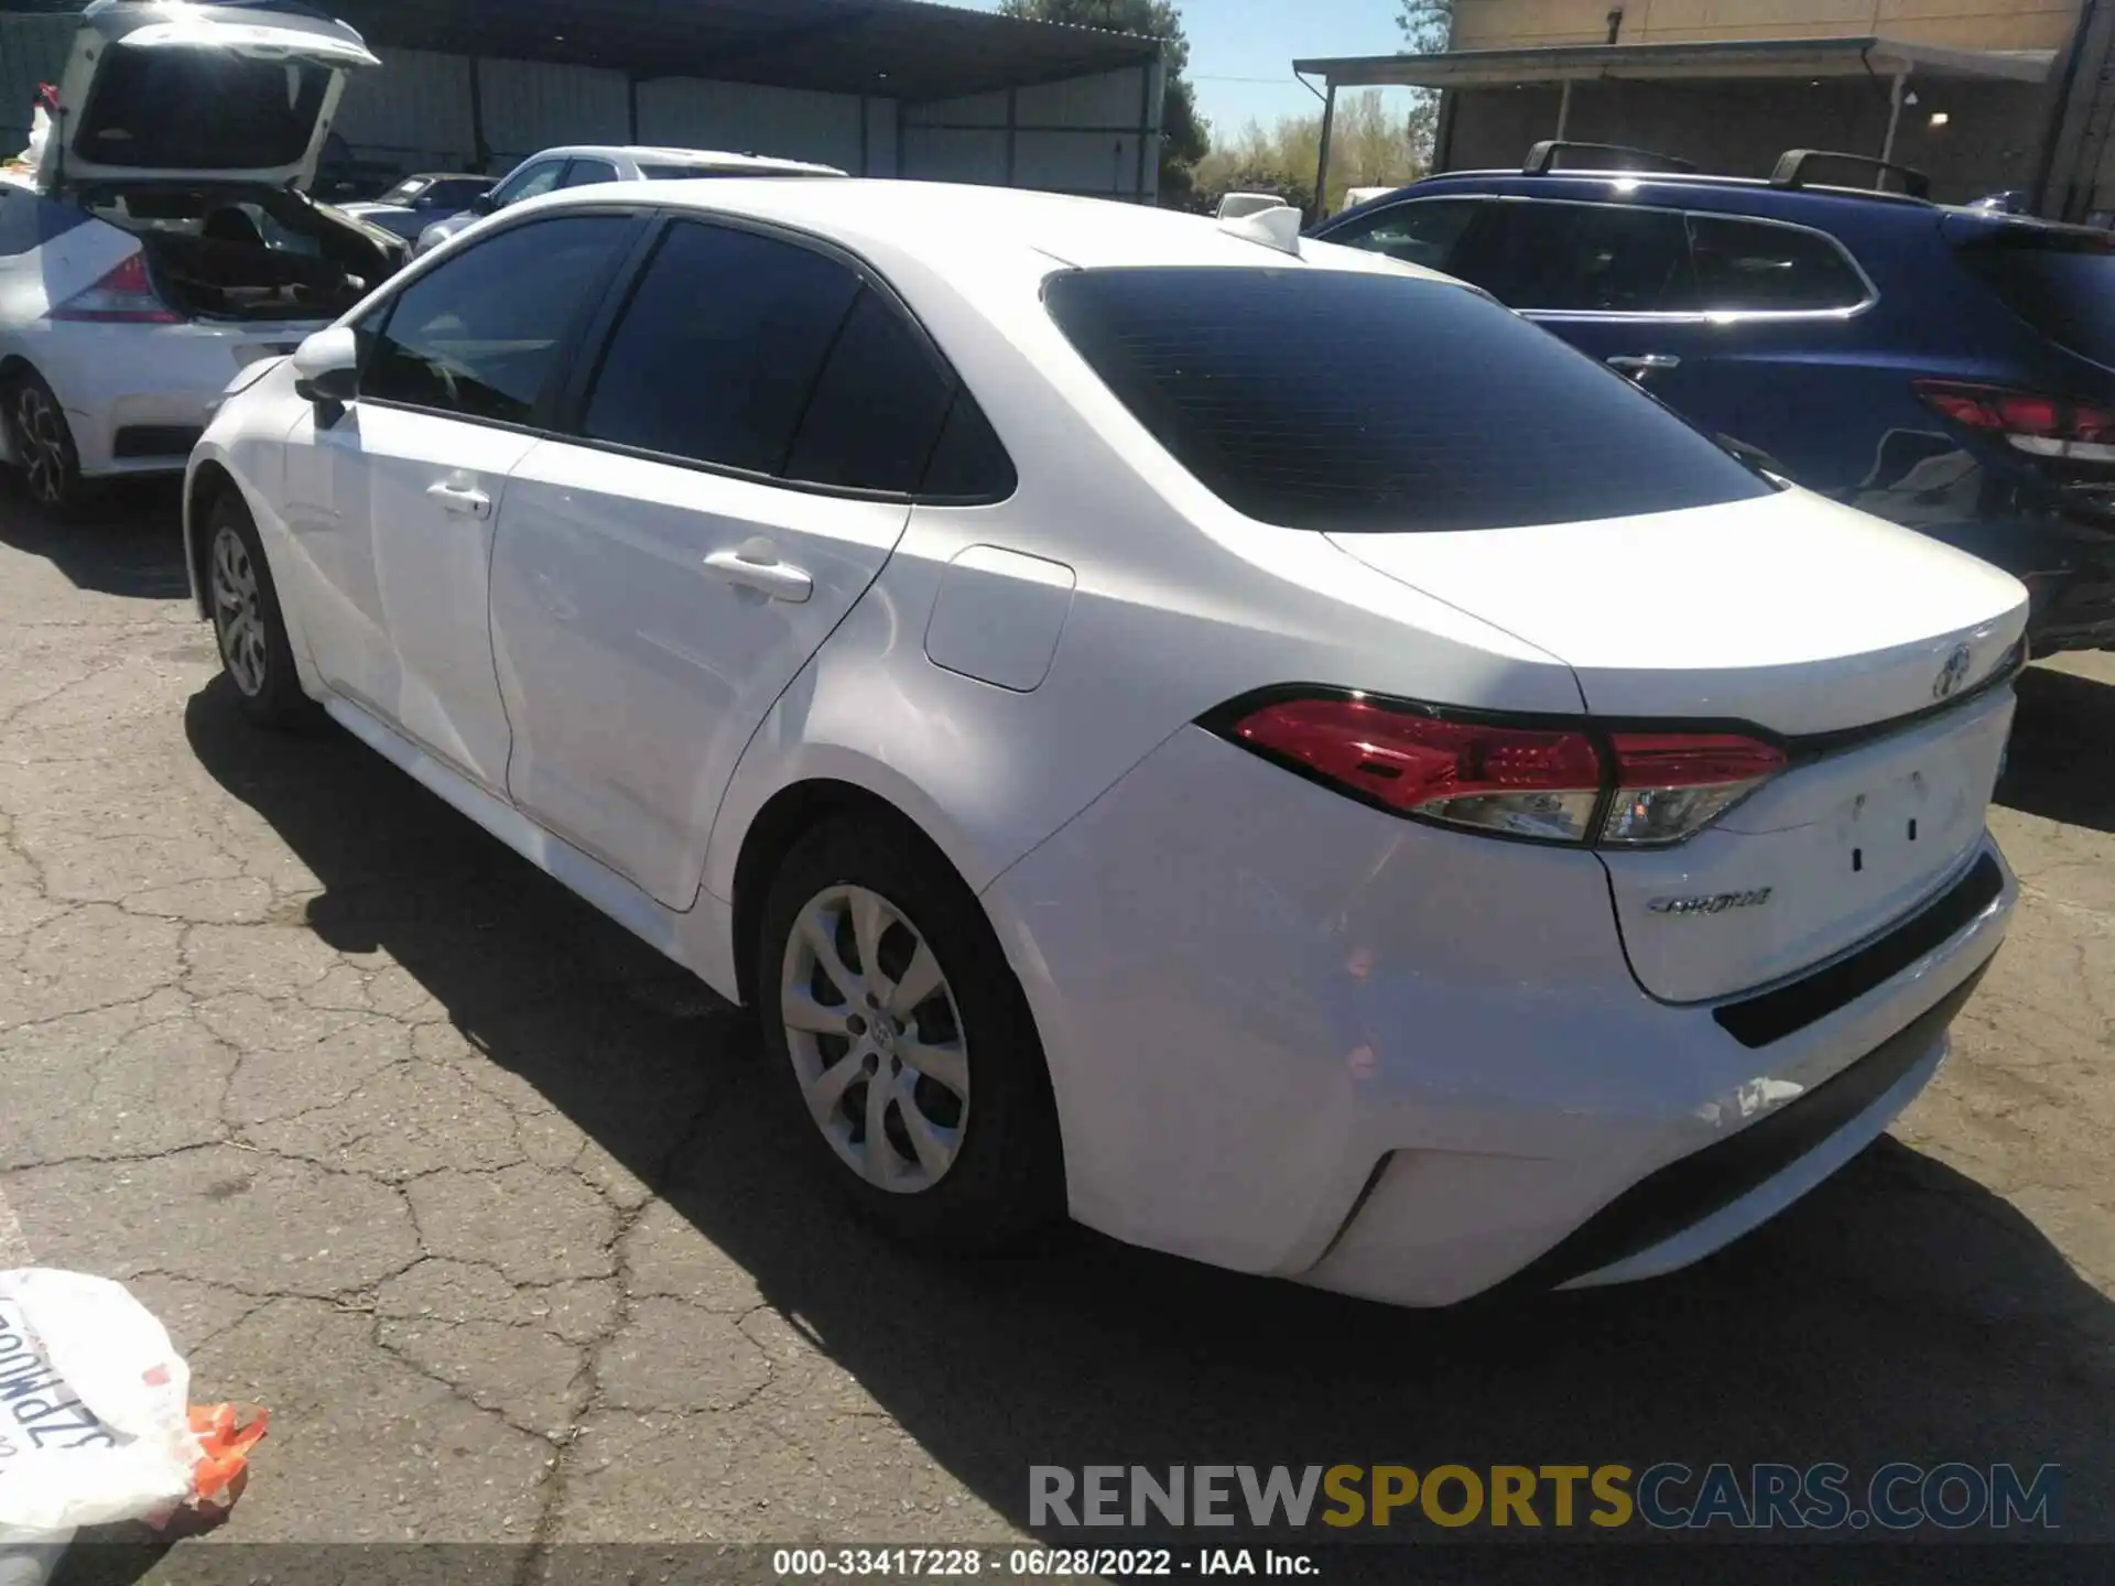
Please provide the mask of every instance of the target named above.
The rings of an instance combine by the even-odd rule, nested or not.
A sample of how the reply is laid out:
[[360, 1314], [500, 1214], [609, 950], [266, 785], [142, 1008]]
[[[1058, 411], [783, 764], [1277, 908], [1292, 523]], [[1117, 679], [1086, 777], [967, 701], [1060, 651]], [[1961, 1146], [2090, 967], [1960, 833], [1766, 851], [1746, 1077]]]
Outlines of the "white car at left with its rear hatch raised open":
[[36, 501], [180, 474], [239, 368], [404, 262], [302, 195], [372, 63], [351, 27], [275, 6], [82, 13], [42, 156], [0, 180], [0, 455]]

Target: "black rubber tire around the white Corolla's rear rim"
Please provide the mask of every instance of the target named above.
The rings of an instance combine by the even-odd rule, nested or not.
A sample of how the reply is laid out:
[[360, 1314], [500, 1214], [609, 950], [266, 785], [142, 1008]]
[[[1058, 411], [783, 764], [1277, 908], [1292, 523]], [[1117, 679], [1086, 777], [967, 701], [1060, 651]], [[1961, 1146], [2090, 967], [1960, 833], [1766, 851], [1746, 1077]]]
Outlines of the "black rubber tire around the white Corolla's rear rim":
[[[795, 1068], [793, 1043], [799, 1036], [789, 1032], [783, 1015], [787, 954], [802, 916], [835, 888], [848, 886], [884, 899], [912, 933], [884, 937], [876, 952], [884, 979], [890, 952], [903, 954], [903, 945], [916, 937], [931, 947], [943, 975], [939, 992], [920, 1004], [922, 1011], [895, 1038], [918, 1040], [931, 1034], [935, 1019], [941, 1026], [958, 1021], [954, 1034], [967, 1059], [969, 1100], [958, 1112], [960, 1144], [952, 1163], [914, 1193], [876, 1186], [825, 1136]], [[778, 867], [757, 937], [757, 1015], [764, 1047], [778, 1070], [776, 1083], [793, 1104], [810, 1157], [859, 1216], [899, 1241], [935, 1254], [998, 1252], [1064, 1218], [1058, 1108], [1028, 1000], [983, 907], [922, 833], [907, 823], [867, 814], [825, 820]], [[844, 964], [850, 962], [846, 956]], [[897, 975], [901, 973], [899, 966]], [[819, 1036], [808, 1051], [840, 1040], [844, 1049], [852, 1045], [848, 1036]], [[918, 1047], [907, 1045], [903, 1051], [916, 1053]], [[924, 1089], [933, 1081], [916, 1076], [916, 1057], [903, 1062], [914, 1066], [914, 1093], [935, 1095]], [[852, 1081], [846, 1100], [838, 1104], [852, 1129], [859, 1127], [854, 1117], [865, 1114], [865, 1102], [854, 1095], [861, 1089], [861, 1081]], [[939, 1106], [945, 1108], [950, 1100], [956, 1098], [939, 1095]], [[888, 1121], [890, 1150], [914, 1174], [922, 1174], [903, 1129], [907, 1125], [899, 1110]], [[895, 1144], [899, 1136], [905, 1142], [901, 1146]]]

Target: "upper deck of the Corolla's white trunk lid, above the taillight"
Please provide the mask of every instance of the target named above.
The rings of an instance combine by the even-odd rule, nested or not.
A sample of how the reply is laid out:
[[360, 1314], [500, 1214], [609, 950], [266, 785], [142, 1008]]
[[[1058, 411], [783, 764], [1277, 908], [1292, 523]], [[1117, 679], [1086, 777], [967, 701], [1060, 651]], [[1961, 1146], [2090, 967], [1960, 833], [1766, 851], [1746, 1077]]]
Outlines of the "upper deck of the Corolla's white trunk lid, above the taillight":
[[1578, 672], [1597, 717], [1842, 732], [1933, 704], [1954, 645], [1973, 687], [2018, 643], [2026, 588], [1806, 491], [1645, 518], [1330, 535]]

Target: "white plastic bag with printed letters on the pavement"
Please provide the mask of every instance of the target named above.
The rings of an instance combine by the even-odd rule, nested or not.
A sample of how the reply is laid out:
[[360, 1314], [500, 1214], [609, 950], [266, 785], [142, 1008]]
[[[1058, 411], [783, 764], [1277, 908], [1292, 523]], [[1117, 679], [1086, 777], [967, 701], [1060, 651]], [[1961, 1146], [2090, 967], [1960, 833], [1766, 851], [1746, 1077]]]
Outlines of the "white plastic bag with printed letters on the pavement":
[[36, 1586], [82, 1525], [192, 1491], [190, 1368], [121, 1284], [0, 1271], [0, 1586]]

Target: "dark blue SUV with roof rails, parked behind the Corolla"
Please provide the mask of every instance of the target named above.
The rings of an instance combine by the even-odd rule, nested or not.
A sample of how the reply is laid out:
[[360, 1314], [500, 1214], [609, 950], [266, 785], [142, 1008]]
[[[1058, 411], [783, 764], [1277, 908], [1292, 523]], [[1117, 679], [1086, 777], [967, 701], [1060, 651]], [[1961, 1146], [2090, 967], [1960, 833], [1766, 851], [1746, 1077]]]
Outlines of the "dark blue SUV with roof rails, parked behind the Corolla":
[[[1582, 150], [1679, 169], [1557, 169]], [[1538, 144], [1311, 235], [1474, 281], [1770, 472], [2016, 573], [2035, 653], [2115, 647], [2115, 239], [1895, 165], [1899, 195], [1810, 182], [1838, 161], [1880, 165]]]

